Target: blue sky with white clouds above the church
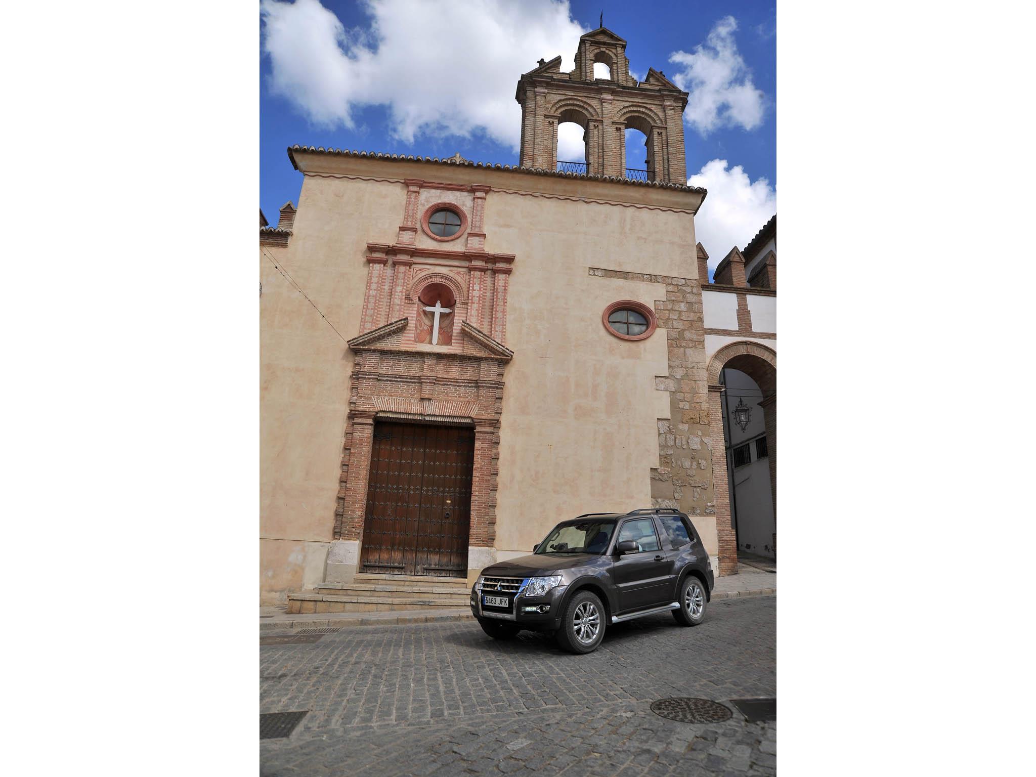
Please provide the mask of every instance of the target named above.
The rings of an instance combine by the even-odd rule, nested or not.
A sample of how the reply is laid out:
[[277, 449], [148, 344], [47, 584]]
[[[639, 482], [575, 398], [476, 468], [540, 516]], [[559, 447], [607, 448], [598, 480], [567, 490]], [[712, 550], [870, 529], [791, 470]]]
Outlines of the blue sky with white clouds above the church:
[[691, 93], [687, 173], [710, 190], [696, 220], [710, 265], [776, 211], [772, 2], [262, 0], [260, 9], [260, 206], [271, 223], [298, 202], [301, 174], [285, 150], [294, 143], [515, 164], [519, 76], [558, 54], [571, 67], [602, 10], [636, 77], [655, 67]]

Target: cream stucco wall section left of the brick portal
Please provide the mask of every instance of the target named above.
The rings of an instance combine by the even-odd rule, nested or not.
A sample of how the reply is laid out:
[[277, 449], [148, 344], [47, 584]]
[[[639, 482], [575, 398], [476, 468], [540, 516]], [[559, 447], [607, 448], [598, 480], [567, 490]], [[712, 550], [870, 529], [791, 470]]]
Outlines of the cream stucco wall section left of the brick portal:
[[[265, 604], [323, 577], [335, 522], [368, 241], [394, 242], [405, 190], [306, 178], [288, 248], [261, 247], [260, 585]], [[294, 279], [323, 320], [274, 261]], [[319, 544], [319, 546], [314, 545]]]

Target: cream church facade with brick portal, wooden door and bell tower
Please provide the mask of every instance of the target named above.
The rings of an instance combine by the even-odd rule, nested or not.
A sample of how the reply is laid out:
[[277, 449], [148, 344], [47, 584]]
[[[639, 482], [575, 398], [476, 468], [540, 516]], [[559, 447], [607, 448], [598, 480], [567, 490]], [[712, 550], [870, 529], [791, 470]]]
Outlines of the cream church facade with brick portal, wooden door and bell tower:
[[[625, 47], [601, 28], [574, 70], [521, 76], [517, 166], [288, 150], [297, 210], [260, 227], [262, 604], [348, 609], [304, 593], [365, 576], [470, 582], [557, 521], [651, 506], [737, 571], [687, 94], [630, 78]], [[563, 121], [584, 128], [582, 172], [557, 170]], [[629, 127], [646, 171], [625, 170]]]

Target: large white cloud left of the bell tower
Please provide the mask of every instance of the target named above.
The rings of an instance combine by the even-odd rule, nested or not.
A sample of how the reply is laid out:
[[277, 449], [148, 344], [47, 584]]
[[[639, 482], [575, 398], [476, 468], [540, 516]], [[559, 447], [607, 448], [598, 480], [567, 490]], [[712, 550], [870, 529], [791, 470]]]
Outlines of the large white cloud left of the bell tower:
[[[346, 30], [319, 0], [262, 0], [270, 90], [318, 126], [354, 126], [357, 107], [390, 112], [392, 134], [470, 136], [517, 150], [522, 73], [562, 55], [572, 69], [579, 36], [567, 0], [367, 0], [369, 30]], [[580, 155], [579, 159], [582, 159]]]

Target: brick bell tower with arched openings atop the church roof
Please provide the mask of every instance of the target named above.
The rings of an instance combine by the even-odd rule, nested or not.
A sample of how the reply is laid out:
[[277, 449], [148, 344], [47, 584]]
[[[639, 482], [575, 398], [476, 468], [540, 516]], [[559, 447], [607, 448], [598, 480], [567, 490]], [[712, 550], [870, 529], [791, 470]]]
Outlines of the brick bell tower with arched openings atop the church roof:
[[[595, 78], [594, 65], [608, 65], [609, 78]], [[626, 41], [606, 27], [579, 38], [575, 69], [562, 73], [562, 57], [518, 80], [521, 106], [521, 167], [557, 169], [557, 125], [574, 121], [583, 128], [585, 162], [576, 171], [663, 183], [687, 183], [684, 109], [681, 91], [654, 67], [643, 81], [630, 76]], [[626, 167], [626, 130], [646, 138], [648, 170]], [[585, 165], [583, 169], [580, 169]]]

